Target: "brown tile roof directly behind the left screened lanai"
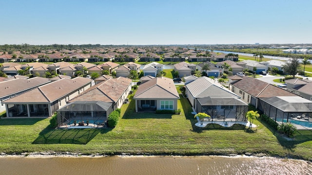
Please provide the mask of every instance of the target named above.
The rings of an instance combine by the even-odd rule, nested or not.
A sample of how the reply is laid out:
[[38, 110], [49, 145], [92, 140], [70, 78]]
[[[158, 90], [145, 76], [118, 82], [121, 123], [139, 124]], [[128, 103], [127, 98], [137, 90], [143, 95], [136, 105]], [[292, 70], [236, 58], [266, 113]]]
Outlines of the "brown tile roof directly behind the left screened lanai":
[[131, 79], [124, 77], [111, 78], [94, 85], [69, 102], [102, 101], [116, 103], [124, 91], [131, 86], [131, 82]]

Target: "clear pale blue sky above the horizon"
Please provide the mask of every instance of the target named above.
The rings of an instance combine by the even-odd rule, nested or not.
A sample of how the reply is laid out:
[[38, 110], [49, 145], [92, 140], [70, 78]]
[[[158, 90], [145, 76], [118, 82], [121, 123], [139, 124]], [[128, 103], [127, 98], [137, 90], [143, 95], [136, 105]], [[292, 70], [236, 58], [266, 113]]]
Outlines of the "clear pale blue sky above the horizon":
[[1, 0], [3, 44], [308, 44], [312, 0]]

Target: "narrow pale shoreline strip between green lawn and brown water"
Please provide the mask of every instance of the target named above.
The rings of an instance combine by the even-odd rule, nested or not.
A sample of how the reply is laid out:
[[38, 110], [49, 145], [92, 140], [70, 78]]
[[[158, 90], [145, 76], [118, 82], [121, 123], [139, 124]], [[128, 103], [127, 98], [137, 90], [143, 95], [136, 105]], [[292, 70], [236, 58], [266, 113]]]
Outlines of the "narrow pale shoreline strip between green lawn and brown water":
[[281, 158], [281, 159], [294, 159], [294, 160], [302, 160], [306, 161], [307, 163], [312, 163], [312, 159], [305, 160], [301, 158], [296, 157], [281, 157], [281, 156], [272, 156], [267, 155], [264, 153], [245, 153], [245, 154], [213, 154], [213, 155], [152, 155], [152, 154], [142, 154], [142, 155], [131, 155], [127, 153], [121, 153], [121, 154], [114, 154], [114, 155], [103, 155], [103, 154], [81, 154], [81, 153], [71, 153], [71, 152], [33, 152], [33, 153], [21, 153], [21, 154], [7, 154], [7, 153], [0, 153], [0, 158], [3, 157], [31, 157], [31, 158], [52, 158], [52, 157], [68, 157], [68, 158], [78, 158], [78, 157], [90, 157], [90, 158], [97, 158], [97, 157], [229, 157], [229, 158], [235, 158], [235, 157], [245, 157], [245, 158], [261, 158], [261, 157], [273, 157], [273, 158]]

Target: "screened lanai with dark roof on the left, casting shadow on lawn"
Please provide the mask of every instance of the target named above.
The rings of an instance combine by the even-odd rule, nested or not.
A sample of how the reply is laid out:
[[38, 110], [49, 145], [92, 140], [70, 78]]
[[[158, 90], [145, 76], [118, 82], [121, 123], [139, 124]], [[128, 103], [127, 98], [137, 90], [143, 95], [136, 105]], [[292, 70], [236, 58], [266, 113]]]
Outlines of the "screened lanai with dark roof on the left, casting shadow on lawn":
[[99, 101], [73, 102], [57, 110], [58, 125], [97, 126], [107, 122], [113, 104]]

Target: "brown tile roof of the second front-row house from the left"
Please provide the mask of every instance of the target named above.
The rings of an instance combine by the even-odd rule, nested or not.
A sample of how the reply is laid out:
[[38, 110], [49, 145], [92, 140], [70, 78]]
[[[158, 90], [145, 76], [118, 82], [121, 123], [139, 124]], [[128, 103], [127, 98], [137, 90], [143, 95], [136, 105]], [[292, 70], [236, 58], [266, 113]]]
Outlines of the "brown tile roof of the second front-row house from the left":
[[25, 92], [4, 102], [52, 103], [59, 98], [77, 90], [78, 88], [91, 83], [91, 81], [91, 79], [83, 77], [76, 77], [74, 79], [64, 78]]

